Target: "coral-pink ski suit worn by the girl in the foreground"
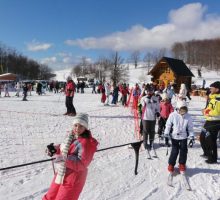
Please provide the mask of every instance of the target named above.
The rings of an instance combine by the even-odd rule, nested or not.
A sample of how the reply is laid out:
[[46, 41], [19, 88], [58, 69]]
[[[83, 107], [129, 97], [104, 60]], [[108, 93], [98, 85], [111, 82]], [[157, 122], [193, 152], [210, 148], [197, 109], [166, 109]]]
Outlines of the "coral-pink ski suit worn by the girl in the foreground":
[[[84, 133], [83, 133], [84, 134]], [[77, 200], [86, 181], [88, 169], [98, 142], [87, 130], [86, 134], [73, 140], [70, 145], [66, 160], [66, 173], [63, 184], [56, 184], [55, 177], [52, 184], [43, 197], [43, 200]], [[58, 149], [57, 154], [60, 151]]]

